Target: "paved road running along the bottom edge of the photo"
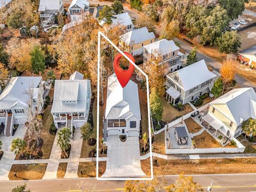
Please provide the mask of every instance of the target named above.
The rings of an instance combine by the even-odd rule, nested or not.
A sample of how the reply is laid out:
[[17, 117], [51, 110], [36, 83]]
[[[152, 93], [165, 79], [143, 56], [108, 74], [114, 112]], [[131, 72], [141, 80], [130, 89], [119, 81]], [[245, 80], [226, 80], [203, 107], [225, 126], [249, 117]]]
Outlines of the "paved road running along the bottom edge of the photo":
[[[218, 191], [256, 191], [256, 174], [211, 174], [192, 175], [194, 180], [201, 183], [204, 189], [213, 182], [212, 192]], [[177, 179], [177, 175], [166, 175], [166, 186]], [[11, 191], [17, 185], [25, 181], [0, 182], [1, 191]], [[98, 181], [95, 178], [87, 179], [54, 179], [54, 180], [30, 180], [26, 181], [28, 188], [35, 192], [47, 191], [123, 191], [124, 181]]]

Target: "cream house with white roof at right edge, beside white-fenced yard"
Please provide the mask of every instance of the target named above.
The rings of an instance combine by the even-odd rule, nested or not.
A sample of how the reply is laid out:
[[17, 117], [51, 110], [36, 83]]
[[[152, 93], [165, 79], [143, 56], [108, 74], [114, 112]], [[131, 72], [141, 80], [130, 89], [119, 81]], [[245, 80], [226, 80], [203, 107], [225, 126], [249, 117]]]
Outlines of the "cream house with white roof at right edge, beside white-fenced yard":
[[242, 125], [256, 118], [256, 93], [252, 87], [234, 89], [210, 102], [201, 123], [222, 145], [243, 133]]

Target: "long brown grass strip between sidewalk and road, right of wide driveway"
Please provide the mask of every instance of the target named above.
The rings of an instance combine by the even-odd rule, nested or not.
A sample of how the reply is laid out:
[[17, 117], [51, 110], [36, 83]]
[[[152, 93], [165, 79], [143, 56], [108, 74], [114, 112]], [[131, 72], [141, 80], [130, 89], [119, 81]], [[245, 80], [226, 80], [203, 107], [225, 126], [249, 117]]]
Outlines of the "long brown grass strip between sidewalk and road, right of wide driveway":
[[[165, 160], [157, 159], [153, 165], [154, 175], [254, 173], [256, 158]], [[149, 158], [141, 161], [142, 171], [150, 171]]]

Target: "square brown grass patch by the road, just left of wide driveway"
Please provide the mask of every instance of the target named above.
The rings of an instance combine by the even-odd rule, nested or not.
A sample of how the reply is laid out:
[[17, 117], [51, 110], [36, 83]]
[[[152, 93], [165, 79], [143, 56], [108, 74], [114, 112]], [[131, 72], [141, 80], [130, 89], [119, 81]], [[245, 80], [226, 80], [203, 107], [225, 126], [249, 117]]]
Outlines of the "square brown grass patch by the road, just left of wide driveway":
[[[82, 170], [82, 173], [81, 173]], [[77, 171], [78, 177], [96, 177], [96, 162], [80, 162]]]

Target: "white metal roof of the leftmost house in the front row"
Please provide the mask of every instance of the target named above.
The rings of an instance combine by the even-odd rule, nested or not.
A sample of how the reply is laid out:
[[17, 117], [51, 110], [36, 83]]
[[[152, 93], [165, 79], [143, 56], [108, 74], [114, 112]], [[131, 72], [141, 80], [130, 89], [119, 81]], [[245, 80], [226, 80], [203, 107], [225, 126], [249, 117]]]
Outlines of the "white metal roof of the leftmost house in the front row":
[[0, 109], [11, 109], [18, 103], [27, 106], [29, 101], [28, 89], [38, 92], [42, 77], [12, 77], [0, 95]]

